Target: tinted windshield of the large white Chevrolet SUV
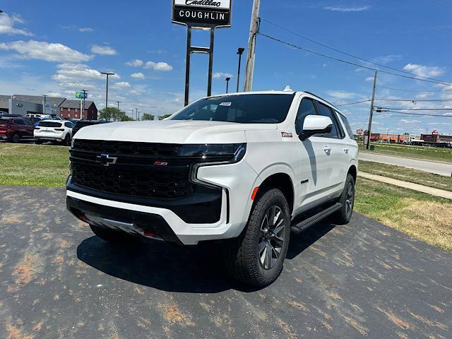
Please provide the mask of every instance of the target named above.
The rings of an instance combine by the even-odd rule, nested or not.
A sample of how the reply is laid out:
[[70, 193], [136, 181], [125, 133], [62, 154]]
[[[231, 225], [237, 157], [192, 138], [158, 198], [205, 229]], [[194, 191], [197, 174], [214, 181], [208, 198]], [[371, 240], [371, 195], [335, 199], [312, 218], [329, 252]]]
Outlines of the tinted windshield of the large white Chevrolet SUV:
[[287, 117], [294, 96], [251, 94], [210, 97], [187, 106], [171, 120], [279, 124]]

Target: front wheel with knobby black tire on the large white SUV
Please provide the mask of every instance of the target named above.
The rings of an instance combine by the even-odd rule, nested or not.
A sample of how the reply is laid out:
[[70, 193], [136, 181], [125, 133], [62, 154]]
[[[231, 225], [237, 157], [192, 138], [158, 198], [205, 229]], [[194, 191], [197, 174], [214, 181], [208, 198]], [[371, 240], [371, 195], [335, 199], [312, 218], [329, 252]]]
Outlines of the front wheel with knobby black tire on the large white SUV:
[[[267, 223], [272, 215], [273, 222]], [[225, 242], [223, 253], [228, 272], [239, 283], [254, 287], [270, 285], [283, 270], [289, 240], [289, 205], [279, 189], [270, 189], [254, 203], [242, 234]], [[270, 256], [266, 256], [268, 253]]]

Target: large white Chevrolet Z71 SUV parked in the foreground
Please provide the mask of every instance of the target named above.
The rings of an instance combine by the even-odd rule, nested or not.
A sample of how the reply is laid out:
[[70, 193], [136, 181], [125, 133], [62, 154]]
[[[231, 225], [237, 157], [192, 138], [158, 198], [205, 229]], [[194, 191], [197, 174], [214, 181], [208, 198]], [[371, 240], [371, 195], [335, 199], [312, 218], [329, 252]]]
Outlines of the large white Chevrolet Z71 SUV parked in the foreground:
[[357, 155], [347, 118], [311, 93], [206, 97], [165, 121], [78, 131], [67, 206], [110, 242], [218, 241], [231, 275], [262, 287], [291, 229], [349, 222]]

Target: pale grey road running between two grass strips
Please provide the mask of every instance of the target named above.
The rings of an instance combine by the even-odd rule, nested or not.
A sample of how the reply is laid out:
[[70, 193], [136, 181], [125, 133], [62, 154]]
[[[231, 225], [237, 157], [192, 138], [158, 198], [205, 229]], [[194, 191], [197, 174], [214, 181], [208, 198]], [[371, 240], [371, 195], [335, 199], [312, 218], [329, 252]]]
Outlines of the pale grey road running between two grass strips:
[[452, 164], [445, 162], [433, 162], [428, 160], [416, 160], [406, 157], [393, 157], [391, 155], [380, 155], [375, 153], [359, 153], [359, 160], [381, 162], [387, 165], [396, 165], [412, 169], [419, 169], [420, 171], [430, 172], [434, 174], [451, 177]]

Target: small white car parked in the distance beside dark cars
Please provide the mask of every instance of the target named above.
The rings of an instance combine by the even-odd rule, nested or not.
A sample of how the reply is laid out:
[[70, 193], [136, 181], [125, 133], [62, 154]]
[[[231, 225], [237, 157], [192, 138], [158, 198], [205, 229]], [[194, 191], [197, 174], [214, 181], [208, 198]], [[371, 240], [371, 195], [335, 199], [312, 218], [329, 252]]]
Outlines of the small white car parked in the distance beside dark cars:
[[71, 145], [73, 124], [65, 120], [42, 120], [35, 126], [33, 136], [35, 143], [40, 145], [44, 141], [57, 141], [64, 145]]

